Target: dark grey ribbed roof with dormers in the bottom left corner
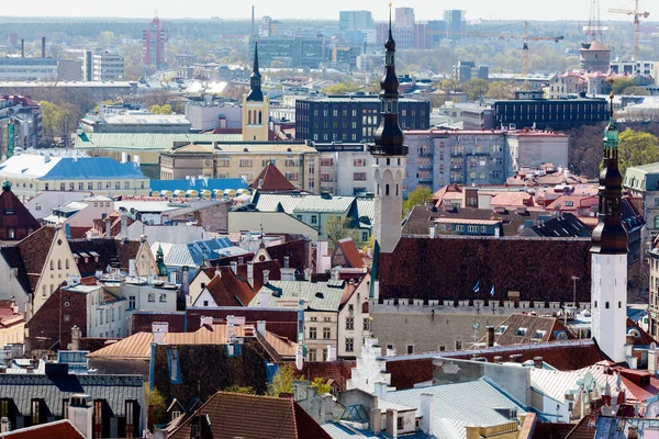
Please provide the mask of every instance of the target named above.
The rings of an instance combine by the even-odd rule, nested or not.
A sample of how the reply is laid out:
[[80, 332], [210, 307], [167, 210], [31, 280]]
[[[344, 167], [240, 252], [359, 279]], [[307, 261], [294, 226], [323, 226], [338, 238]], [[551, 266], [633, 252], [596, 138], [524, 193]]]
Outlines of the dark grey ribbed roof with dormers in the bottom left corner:
[[74, 394], [104, 399], [114, 416], [125, 416], [125, 401], [144, 402], [144, 379], [141, 375], [0, 375], [2, 397], [13, 399], [19, 413], [30, 416], [32, 398], [42, 398], [48, 409], [62, 414], [62, 402]]

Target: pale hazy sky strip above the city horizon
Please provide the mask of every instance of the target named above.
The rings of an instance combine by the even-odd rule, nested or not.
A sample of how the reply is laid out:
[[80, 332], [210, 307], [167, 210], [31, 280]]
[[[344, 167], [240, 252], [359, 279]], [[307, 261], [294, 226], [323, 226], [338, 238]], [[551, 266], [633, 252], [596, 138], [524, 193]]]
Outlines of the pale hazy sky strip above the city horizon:
[[[412, 7], [418, 20], [434, 20], [445, 9], [462, 9], [468, 19], [513, 20], [583, 20], [589, 18], [592, 0], [399, 0], [395, 7]], [[629, 9], [632, 0], [600, 0], [602, 20], [626, 20], [625, 15], [610, 14], [608, 8]], [[338, 20], [339, 10], [366, 9], [376, 20], [387, 18], [387, 0], [31, 0], [2, 1], [0, 15], [16, 16], [153, 16], [157, 9], [160, 18], [248, 18], [250, 5], [256, 16], [273, 19], [304, 18]], [[650, 12], [650, 20], [659, 21], [659, 1], [641, 0], [641, 8]], [[630, 19], [629, 19], [630, 21]]]

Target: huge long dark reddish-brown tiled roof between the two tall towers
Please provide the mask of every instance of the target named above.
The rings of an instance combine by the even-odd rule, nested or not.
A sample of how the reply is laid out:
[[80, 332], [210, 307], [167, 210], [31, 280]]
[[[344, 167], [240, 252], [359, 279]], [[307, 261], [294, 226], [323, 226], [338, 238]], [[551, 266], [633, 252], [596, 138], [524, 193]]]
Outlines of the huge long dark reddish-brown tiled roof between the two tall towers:
[[590, 246], [587, 238], [403, 237], [378, 256], [380, 299], [477, 299], [480, 281], [482, 299], [494, 284], [495, 300], [518, 291], [523, 301], [572, 301], [572, 272], [582, 278], [577, 300], [588, 302]]

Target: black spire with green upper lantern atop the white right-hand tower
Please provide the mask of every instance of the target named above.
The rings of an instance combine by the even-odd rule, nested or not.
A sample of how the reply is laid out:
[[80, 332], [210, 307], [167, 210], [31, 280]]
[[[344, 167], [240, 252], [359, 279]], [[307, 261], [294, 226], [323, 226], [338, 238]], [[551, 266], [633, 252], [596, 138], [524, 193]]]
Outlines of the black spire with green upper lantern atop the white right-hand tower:
[[608, 97], [610, 119], [604, 130], [604, 169], [600, 173], [600, 213], [593, 230], [591, 252], [627, 254], [627, 230], [623, 227], [623, 176], [618, 170], [619, 132], [613, 120], [613, 93]]

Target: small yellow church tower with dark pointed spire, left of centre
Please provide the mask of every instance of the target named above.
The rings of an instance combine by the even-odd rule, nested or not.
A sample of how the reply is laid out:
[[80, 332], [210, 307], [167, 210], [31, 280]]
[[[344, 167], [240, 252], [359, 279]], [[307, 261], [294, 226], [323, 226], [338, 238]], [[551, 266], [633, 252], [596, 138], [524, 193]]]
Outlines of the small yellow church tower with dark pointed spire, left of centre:
[[243, 97], [243, 140], [267, 142], [270, 103], [264, 95], [258, 71], [258, 43], [254, 48], [254, 69], [249, 78], [249, 93]]

